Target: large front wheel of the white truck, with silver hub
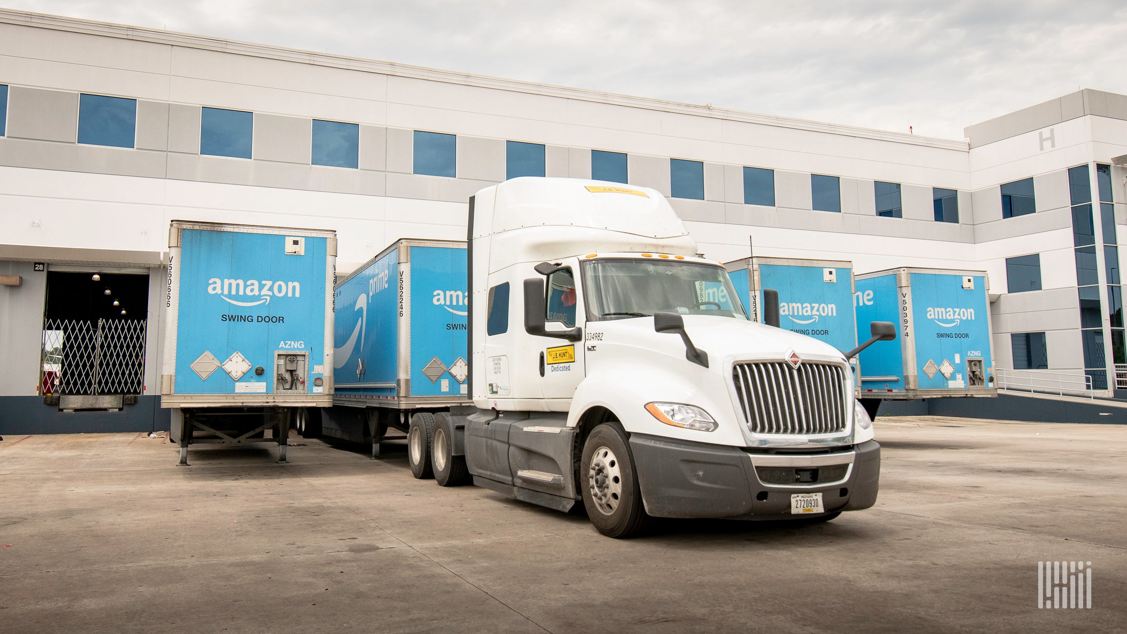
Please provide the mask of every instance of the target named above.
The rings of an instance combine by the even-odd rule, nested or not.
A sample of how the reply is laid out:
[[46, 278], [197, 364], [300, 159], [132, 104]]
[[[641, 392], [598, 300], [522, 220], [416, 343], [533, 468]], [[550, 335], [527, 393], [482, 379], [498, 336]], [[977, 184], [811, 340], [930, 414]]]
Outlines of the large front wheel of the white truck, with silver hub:
[[587, 436], [579, 485], [587, 517], [603, 535], [630, 537], [646, 526], [649, 516], [642, 506], [633, 455], [625, 431], [616, 423], [604, 422]]

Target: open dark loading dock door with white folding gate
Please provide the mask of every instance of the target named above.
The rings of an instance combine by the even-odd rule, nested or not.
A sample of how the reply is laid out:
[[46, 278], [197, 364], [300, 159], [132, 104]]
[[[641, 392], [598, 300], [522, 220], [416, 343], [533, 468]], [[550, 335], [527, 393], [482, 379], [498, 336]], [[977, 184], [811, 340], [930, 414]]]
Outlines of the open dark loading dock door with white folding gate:
[[[48, 270], [42, 394], [141, 394], [148, 309], [148, 275]], [[119, 408], [121, 400], [115, 402]], [[70, 403], [76, 408], [114, 407], [98, 400]]]

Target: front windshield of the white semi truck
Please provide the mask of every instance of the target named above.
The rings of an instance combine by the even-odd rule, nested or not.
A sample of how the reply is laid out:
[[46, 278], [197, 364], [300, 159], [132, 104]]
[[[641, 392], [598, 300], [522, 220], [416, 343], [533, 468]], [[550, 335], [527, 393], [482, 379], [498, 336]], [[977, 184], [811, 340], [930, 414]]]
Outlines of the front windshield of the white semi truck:
[[594, 321], [660, 311], [747, 319], [728, 273], [717, 266], [656, 258], [588, 260], [583, 279]]

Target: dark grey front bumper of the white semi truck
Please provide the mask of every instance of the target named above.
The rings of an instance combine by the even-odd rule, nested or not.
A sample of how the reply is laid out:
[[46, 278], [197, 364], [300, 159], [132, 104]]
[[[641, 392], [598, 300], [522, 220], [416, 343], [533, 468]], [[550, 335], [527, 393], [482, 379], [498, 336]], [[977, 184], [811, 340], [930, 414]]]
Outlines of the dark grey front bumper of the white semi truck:
[[[790, 495], [820, 492], [827, 514], [851, 511], [875, 504], [880, 484], [876, 440], [831, 454], [757, 454], [635, 434], [630, 450], [646, 512], [655, 517], [818, 517], [791, 515]], [[837, 468], [843, 464], [850, 466]], [[817, 470], [818, 481], [783, 484], [788, 471], [793, 474], [796, 468], [806, 472], [800, 477]]]

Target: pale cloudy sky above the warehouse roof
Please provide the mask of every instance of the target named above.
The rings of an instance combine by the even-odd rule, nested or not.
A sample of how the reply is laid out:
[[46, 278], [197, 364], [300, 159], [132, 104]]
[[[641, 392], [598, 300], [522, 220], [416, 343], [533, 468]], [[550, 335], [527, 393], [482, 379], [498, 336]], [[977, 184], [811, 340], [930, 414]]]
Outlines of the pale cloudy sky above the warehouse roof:
[[1122, 0], [0, 0], [12, 9], [962, 139], [1127, 93]]

